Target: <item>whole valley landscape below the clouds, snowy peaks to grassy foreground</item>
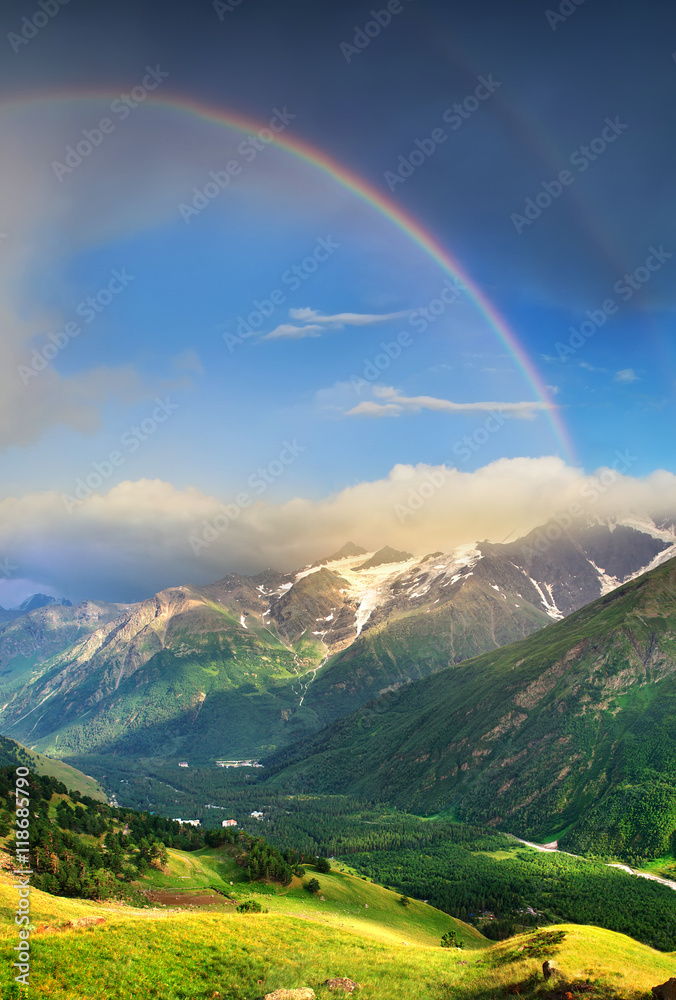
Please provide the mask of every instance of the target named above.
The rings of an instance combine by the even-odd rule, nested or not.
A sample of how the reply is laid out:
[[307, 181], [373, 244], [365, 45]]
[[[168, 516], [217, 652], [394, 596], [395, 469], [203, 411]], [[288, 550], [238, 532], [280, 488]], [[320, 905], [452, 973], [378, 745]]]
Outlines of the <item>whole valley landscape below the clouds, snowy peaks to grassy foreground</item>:
[[37, 934], [48, 995], [89, 996], [83, 949], [126, 997], [113, 955], [138, 948], [150, 997], [151, 942], [218, 933], [167, 996], [249, 1000], [255, 978], [321, 997], [325, 969], [376, 996], [396, 969], [404, 998], [544, 1000], [549, 955], [571, 988], [641, 996], [676, 951], [673, 526], [581, 523], [548, 547], [544, 531], [422, 558], [350, 544], [294, 574], [0, 627], [3, 762], [65, 783], [58, 879], [38, 856], [31, 892], [82, 916]]

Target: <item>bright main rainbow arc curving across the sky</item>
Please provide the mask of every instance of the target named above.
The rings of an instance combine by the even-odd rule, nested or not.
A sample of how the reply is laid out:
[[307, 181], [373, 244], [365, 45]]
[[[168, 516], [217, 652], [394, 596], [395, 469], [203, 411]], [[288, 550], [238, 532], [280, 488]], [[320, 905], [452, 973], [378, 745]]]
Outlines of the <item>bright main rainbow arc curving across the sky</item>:
[[[13, 98], [6, 101], [0, 107], [11, 108], [30, 104], [40, 104], [49, 101], [111, 101], [119, 97], [119, 91], [113, 90], [91, 90], [86, 94], [79, 91], [59, 91], [52, 92], [31, 92], [23, 97]], [[169, 95], [165, 97], [149, 94], [145, 104], [164, 108], [171, 111], [178, 111], [191, 115], [212, 125], [219, 125], [226, 128], [235, 129], [240, 132], [256, 133], [261, 128], [265, 128], [265, 123], [257, 122], [254, 119], [235, 114], [231, 111], [224, 111], [221, 108], [211, 107], [207, 104], [197, 103], [186, 97]], [[538, 397], [538, 402], [543, 403], [546, 413], [553, 427], [556, 438], [562, 448], [564, 456], [571, 462], [575, 462], [575, 452], [570, 440], [568, 429], [565, 426], [559, 411], [559, 407], [552, 399], [549, 389], [545, 385], [538, 370], [533, 364], [530, 356], [519, 342], [516, 334], [510, 328], [507, 321], [497, 311], [492, 302], [483, 293], [481, 288], [465, 271], [460, 261], [450, 253], [439, 240], [429, 230], [425, 229], [413, 215], [401, 208], [393, 198], [384, 195], [368, 181], [358, 176], [345, 166], [338, 163], [332, 157], [302, 139], [295, 138], [287, 132], [278, 133], [274, 137], [274, 145], [281, 147], [287, 153], [298, 157], [305, 163], [309, 163], [318, 170], [328, 174], [342, 187], [346, 188], [355, 197], [361, 199], [370, 208], [384, 215], [395, 226], [401, 229], [417, 246], [419, 246], [429, 257], [434, 260], [439, 267], [452, 278], [458, 279], [467, 288], [468, 297], [474, 303], [477, 310], [488, 322], [498, 339], [504, 344], [511, 356], [514, 358], [520, 371], [532, 387]]]

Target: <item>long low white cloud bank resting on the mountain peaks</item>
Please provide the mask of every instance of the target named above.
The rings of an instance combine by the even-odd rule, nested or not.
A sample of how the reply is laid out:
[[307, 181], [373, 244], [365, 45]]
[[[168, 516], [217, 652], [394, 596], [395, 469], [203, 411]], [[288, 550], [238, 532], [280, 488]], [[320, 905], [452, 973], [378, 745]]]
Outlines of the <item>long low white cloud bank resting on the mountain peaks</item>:
[[[608, 456], [609, 466], [614, 458]], [[217, 498], [159, 480], [123, 482], [72, 514], [57, 493], [33, 493], [0, 502], [0, 555], [16, 567], [15, 580], [35, 581], [37, 590], [125, 601], [231, 571], [294, 569], [348, 539], [424, 555], [477, 539], [518, 537], [573, 505], [601, 516], [676, 511], [672, 473], [638, 479], [607, 469], [599, 480], [601, 471], [586, 475], [555, 457], [501, 459], [473, 472], [397, 465], [383, 479], [318, 500], [259, 499], [217, 531], [199, 557], [190, 535], [214, 523], [219, 504], [232, 502], [244, 484]], [[430, 481], [440, 485], [430, 491]], [[408, 506], [416, 495], [429, 499], [418, 500], [419, 509], [402, 520], [396, 505]], [[9, 584], [0, 583], [4, 606]]]

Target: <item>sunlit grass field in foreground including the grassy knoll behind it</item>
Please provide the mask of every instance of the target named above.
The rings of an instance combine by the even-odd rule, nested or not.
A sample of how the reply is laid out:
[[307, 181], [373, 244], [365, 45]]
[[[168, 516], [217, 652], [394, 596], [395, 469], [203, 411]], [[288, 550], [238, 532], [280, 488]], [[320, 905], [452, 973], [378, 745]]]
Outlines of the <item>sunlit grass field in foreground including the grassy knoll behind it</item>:
[[[170, 852], [167, 871], [153, 874], [155, 888], [203, 890], [215, 886], [235, 900], [257, 898], [269, 911], [238, 914], [223, 897], [219, 912], [137, 910], [31, 893], [31, 991], [53, 1000], [255, 1000], [285, 986], [311, 986], [318, 997], [332, 976], [361, 984], [364, 1000], [498, 1000], [511, 995], [544, 998], [544, 957], [566, 980], [592, 980], [587, 997], [649, 995], [676, 972], [676, 954], [665, 955], [596, 927], [557, 925], [565, 939], [533, 951], [542, 932], [490, 945], [473, 928], [345, 871], [308, 874], [320, 883], [311, 896], [300, 880], [256, 894], [238, 878], [236, 865], [218, 851]], [[233, 885], [230, 885], [230, 882]], [[16, 891], [0, 875], [0, 966], [3, 1000], [15, 994], [10, 958]], [[323, 897], [323, 898], [322, 898]], [[368, 904], [368, 905], [366, 905]], [[96, 924], [97, 918], [103, 923]], [[78, 926], [78, 921], [80, 925]], [[67, 925], [71, 926], [67, 926]], [[72, 925], [75, 926], [72, 926]], [[463, 950], [439, 947], [450, 926]], [[539, 981], [536, 981], [536, 974]], [[356, 995], [356, 994], [355, 994]]]

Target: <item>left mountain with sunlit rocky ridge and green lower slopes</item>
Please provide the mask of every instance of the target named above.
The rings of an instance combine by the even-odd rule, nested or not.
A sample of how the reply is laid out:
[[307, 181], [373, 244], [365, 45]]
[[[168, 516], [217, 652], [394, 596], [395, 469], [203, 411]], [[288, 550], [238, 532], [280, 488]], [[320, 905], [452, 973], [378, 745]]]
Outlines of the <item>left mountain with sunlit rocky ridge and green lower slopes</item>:
[[191, 588], [162, 591], [52, 657], [5, 706], [5, 730], [61, 754], [213, 760], [274, 745], [299, 698], [293, 682], [321, 647], [288, 646], [248, 621]]

